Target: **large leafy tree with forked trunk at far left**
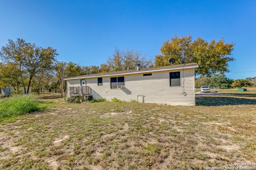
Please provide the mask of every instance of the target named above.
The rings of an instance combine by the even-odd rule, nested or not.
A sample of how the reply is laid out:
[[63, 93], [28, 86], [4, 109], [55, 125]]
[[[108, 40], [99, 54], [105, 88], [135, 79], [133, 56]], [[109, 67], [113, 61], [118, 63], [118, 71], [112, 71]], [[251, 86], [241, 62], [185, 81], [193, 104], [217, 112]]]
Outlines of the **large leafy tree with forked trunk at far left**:
[[8, 44], [3, 46], [0, 57], [4, 64], [14, 64], [20, 73], [25, 73], [27, 78], [20, 75], [23, 88], [30, 90], [31, 82], [40, 71], [50, 71], [54, 69], [57, 50], [52, 47], [37, 47], [35, 44], [26, 43], [24, 39], [17, 38], [17, 41], [8, 40]]

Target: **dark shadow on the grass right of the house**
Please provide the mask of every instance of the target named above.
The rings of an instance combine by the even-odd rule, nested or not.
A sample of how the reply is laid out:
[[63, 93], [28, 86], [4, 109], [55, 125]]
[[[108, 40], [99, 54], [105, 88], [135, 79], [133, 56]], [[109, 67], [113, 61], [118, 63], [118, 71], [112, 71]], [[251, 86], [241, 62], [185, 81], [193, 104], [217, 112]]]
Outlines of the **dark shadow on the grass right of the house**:
[[[243, 95], [245, 95], [245, 94], [243, 94]], [[237, 96], [237, 95], [233, 95], [233, 96]], [[199, 95], [199, 96], [196, 96], [196, 105], [197, 106], [256, 105], [256, 99], [214, 96], [214, 95], [213, 96]]]

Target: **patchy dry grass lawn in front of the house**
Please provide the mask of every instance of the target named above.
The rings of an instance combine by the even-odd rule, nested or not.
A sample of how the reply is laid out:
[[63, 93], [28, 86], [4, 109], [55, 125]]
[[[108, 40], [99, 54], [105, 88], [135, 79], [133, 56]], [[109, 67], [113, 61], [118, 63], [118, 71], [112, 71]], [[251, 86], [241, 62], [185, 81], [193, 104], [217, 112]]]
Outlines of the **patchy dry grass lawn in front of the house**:
[[256, 92], [197, 106], [62, 104], [0, 122], [0, 169], [204, 169], [256, 163]]

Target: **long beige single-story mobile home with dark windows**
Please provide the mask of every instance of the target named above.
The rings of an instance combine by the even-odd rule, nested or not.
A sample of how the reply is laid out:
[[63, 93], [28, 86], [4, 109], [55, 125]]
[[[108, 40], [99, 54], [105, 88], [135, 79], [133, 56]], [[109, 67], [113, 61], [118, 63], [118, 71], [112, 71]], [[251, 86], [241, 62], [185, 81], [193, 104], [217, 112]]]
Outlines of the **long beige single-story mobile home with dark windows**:
[[[94, 99], [136, 100], [143, 103], [195, 105], [196, 63], [66, 78], [67, 94], [77, 88]], [[74, 92], [76, 91], [76, 92]]]

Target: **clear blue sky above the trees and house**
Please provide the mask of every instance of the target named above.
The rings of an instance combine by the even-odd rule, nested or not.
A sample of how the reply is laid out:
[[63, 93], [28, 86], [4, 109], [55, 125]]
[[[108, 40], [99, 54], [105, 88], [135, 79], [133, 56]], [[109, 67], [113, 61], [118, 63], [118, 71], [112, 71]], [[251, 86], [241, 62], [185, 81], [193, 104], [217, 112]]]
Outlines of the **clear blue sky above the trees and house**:
[[[174, 35], [235, 43], [229, 78], [255, 77], [256, 1], [4, 1], [0, 46], [26, 39], [59, 61], [99, 65], [115, 48], [154, 58]], [[250, 71], [250, 72], [249, 72]]]

